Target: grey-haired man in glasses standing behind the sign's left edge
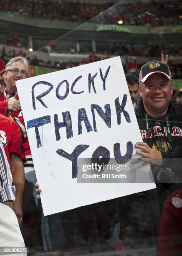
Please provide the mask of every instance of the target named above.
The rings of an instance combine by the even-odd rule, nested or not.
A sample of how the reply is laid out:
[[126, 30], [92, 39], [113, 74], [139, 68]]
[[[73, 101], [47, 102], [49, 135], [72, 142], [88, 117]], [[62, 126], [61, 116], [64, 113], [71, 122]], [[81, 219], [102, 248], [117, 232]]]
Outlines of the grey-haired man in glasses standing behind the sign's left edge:
[[[6, 88], [2, 90], [2, 95], [0, 97], [0, 104], [7, 104], [12, 99], [12, 109], [6, 111], [6, 115], [10, 116], [15, 120], [15, 122], [19, 125], [20, 130], [22, 132], [22, 140], [23, 140], [23, 148], [25, 151], [26, 162], [24, 164], [25, 167], [25, 190], [23, 193], [23, 210], [24, 215], [28, 217], [35, 214], [36, 220], [33, 220], [33, 223], [30, 221], [28, 225], [31, 224], [30, 233], [36, 232], [35, 228], [38, 226], [38, 217], [36, 215], [37, 211], [40, 210], [40, 205], [38, 205], [38, 199], [36, 198], [36, 191], [34, 187], [36, 180], [33, 160], [30, 151], [30, 145], [28, 142], [28, 137], [25, 129], [25, 123], [23, 119], [23, 114], [17, 94], [17, 88], [15, 81], [20, 79], [25, 79], [28, 77], [28, 70], [29, 65], [28, 61], [23, 57], [15, 57], [10, 59], [10, 61], [6, 64], [6, 72], [5, 72], [5, 79], [6, 79]], [[0, 105], [1, 106], [1, 105]], [[34, 200], [32, 200], [32, 195], [34, 196]], [[25, 218], [24, 218], [25, 220]], [[34, 224], [35, 223], [35, 224]], [[23, 223], [24, 225], [25, 223]], [[27, 224], [27, 223], [26, 223]], [[26, 225], [25, 224], [25, 225]], [[24, 226], [25, 226], [24, 225]], [[44, 216], [42, 213], [41, 218], [41, 231], [42, 231], [42, 238], [43, 238], [43, 246], [44, 250], [53, 250], [58, 249], [60, 246], [65, 243], [65, 238], [63, 234], [62, 223], [59, 214], [54, 214], [50, 216]], [[61, 233], [62, 232], [62, 233]], [[30, 240], [30, 238], [29, 238]], [[26, 241], [25, 244], [31, 244], [31, 241]], [[34, 243], [34, 241], [33, 241]], [[34, 246], [34, 244], [33, 244]], [[35, 245], [36, 246], [36, 245]], [[30, 248], [31, 250], [32, 248]], [[33, 248], [36, 250], [36, 248]]]

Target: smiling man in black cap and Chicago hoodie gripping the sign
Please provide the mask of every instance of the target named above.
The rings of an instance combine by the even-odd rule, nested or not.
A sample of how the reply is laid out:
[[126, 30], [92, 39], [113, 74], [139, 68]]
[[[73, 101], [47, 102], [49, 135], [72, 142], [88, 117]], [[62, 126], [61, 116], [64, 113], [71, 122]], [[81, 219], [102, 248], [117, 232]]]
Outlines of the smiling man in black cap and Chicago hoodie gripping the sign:
[[[144, 142], [135, 144], [136, 154], [151, 164], [161, 200], [181, 187], [182, 109], [171, 100], [172, 77], [167, 64], [150, 61], [141, 68], [135, 107]], [[167, 184], [168, 183], [168, 184]], [[174, 184], [172, 184], [174, 183]]]

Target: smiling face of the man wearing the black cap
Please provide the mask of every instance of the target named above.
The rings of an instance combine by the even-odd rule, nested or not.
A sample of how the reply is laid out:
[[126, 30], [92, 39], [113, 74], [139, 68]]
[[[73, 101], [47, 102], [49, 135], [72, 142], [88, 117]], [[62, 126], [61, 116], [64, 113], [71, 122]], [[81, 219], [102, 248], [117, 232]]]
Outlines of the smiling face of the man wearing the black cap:
[[147, 81], [140, 84], [140, 96], [143, 98], [147, 113], [167, 112], [172, 96], [172, 83], [162, 74], [153, 74]]

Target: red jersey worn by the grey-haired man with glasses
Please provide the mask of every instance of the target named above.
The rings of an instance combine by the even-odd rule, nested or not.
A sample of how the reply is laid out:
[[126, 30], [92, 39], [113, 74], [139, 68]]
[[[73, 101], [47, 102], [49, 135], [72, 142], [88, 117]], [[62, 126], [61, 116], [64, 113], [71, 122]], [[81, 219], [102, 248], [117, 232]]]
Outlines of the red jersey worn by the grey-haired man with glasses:
[[[0, 97], [0, 107], [2, 106], [1, 104], [7, 104], [7, 100], [10, 97], [14, 97], [14, 94], [10, 94], [7, 92], [6, 89], [3, 89], [1, 92], [1, 97]], [[16, 96], [16, 99], [19, 100], [18, 96]], [[5, 112], [5, 110], [4, 110]], [[0, 113], [2, 113], [2, 111], [0, 111]], [[8, 115], [8, 110], [6, 107], [6, 113], [5, 115]], [[30, 151], [30, 145], [28, 142], [28, 137], [27, 137], [27, 133], [26, 133], [26, 128], [25, 128], [25, 123], [24, 123], [24, 119], [23, 119], [23, 114], [22, 114], [22, 110], [21, 108], [18, 111], [12, 111], [12, 118], [15, 120], [15, 122], [18, 124], [18, 126], [20, 127], [21, 133], [22, 133], [22, 141], [23, 141], [23, 148], [25, 151], [25, 156], [26, 159], [30, 160], [30, 163], [28, 164], [32, 164], [32, 156], [31, 156], [31, 151]]]

